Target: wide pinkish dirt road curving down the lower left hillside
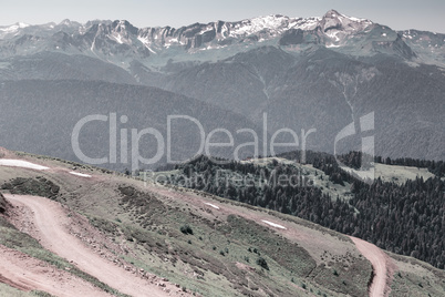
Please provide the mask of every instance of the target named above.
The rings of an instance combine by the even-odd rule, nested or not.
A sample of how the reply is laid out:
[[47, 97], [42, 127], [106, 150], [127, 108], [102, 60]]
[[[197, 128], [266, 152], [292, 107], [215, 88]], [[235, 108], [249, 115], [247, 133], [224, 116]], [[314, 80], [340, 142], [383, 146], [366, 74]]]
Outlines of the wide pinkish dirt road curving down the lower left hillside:
[[87, 248], [79, 238], [68, 232], [65, 226], [70, 224], [70, 219], [56, 202], [27, 195], [4, 194], [4, 197], [14, 206], [25, 206], [32, 211], [34, 215], [31, 221], [38, 233], [33, 236], [40, 240], [43, 247], [73, 262], [79, 269], [96, 277], [102, 283], [131, 296], [176, 295], [176, 291], [167, 293], [164, 290], [165, 288], [115, 266]]

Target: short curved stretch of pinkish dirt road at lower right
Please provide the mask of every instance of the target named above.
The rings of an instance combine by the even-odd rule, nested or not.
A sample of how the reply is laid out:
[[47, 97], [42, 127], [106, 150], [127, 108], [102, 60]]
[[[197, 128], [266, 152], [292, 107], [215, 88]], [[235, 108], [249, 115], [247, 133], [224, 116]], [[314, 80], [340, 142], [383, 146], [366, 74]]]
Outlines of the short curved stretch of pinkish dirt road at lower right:
[[356, 248], [362, 255], [372, 264], [374, 269], [374, 278], [370, 286], [370, 297], [385, 296], [387, 284], [387, 266], [386, 255], [375, 245], [370, 244], [363, 239], [350, 236], [354, 242]]

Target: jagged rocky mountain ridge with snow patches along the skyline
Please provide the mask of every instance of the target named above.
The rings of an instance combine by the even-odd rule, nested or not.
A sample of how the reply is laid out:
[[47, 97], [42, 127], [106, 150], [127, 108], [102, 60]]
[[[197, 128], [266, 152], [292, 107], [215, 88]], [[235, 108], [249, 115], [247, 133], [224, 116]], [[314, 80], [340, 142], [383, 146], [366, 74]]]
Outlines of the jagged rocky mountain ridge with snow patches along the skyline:
[[[126, 20], [96, 20], [84, 24], [64, 20], [59, 24], [0, 27], [1, 58], [52, 51], [91, 55], [124, 68], [134, 60], [147, 66], [165, 64], [168, 60], [215, 61], [230, 57], [232, 51], [262, 45], [280, 45], [288, 51], [320, 45], [359, 57], [390, 53], [407, 60], [422, 58], [442, 63], [444, 40], [444, 34], [415, 30], [397, 32], [335, 10], [321, 18], [273, 14], [177, 29], [136, 28]], [[416, 51], [423, 54], [418, 57]]]

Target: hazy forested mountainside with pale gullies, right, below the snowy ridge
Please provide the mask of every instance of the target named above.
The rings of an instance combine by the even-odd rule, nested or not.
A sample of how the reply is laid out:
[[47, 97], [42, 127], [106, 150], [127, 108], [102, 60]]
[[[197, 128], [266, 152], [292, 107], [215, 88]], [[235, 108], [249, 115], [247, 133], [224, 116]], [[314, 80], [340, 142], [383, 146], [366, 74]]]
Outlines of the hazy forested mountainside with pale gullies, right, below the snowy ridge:
[[[344, 126], [374, 112], [376, 154], [445, 158], [445, 76], [432, 65], [412, 68], [386, 54], [356, 59], [314, 48], [292, 55], [266, 47], [189, 66], [158, 85], [258, 123], [267, 112], [271, 134], [314, 127], [308, 147], [327, 152]], [[359, 150], [360, 137], [345, 151]]]

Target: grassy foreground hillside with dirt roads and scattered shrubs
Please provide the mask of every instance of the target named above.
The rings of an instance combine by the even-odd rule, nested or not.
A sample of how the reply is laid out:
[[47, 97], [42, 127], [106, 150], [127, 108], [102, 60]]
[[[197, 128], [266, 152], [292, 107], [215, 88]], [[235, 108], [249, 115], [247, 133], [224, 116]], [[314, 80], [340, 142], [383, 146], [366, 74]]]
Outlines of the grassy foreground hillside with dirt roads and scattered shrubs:
[[[416, 277], [425, 279], [424, 290], [432, 296], [443, 291], [439, 270], [389, 256], [384, 256], [383, 270], [373, 269], [374, 262], [349, 237], [303, 219], [200, 192], [144, 184], [90, 166], [6, 150], [2, 155], [3, 160], [21, 158], [48, 167], [0, 167], [6, 196], [2, 218], [18, 229], [7, 223], [2, 228], [40, 239], [44, 253], [73, 260], [75, 269], [118, 294], [137, 296], [92, 266], [114, 263], [115, 269], [122, 267], [122, 275], [147, 276], [163, 289], [173, 287], [170, 293], [203, 296], [365, 296], [374, 283], [371, 294], [381, 296], [382, 289], [387, 295], [391, 286], [412, 291], [418, 287]], [[73, 167], [84, 175], [70, 173]], [[46, 198], [20, 196], [27, 194]], [[15, 207], [10, 207], [11, 203]], [[2, 236], [0, 244], [27, 254], [30, 249], [23, 246], [32, 238], [25, 240], [25, 236], [15, 236], [22, 238], [15, 240]], [[83, 263], [87, 257], [90, 263]], [[397, 268], [405, 260], [411, 264]], [[416, 274], [408, 275], [404, 270], [407, 265], [415, 266]], [[393, 276], [396, 272], [402, 277]], [[382, 280], [384, 286], [379, 285]]]

